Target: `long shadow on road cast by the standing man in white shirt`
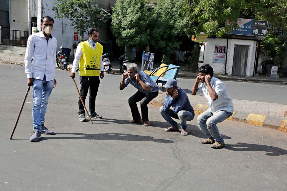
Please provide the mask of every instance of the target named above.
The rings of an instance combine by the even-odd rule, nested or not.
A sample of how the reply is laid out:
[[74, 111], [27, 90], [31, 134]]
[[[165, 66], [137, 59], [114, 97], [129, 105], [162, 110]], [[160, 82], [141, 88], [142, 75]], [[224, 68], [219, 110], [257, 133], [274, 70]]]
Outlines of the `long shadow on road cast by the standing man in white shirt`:
[[56, 133], [56, 135], [68, 135], [68, 136], [42, 137], [38, 142], [48, 139], [87, 139], [87, 140], [153, 141], [161, 143], [173, 143], [172, 140], [154, 139], [153, 137], [150, 136], [141, 136], [141, 135], [123, 134], [123, 133], [100, 133], [100, 134]]

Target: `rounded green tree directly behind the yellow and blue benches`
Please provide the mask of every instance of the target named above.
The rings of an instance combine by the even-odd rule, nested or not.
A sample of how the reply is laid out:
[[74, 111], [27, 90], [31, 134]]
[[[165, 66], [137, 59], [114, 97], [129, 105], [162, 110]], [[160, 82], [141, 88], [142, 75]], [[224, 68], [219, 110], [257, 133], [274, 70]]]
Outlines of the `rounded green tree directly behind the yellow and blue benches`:
[[161, 0], [153, 6], [149, 25], [150, 44], [163, 51], [162, 63], [170, 62], [170, 54], [179, 49], [184, 27], [183, 4], [178, 0]]

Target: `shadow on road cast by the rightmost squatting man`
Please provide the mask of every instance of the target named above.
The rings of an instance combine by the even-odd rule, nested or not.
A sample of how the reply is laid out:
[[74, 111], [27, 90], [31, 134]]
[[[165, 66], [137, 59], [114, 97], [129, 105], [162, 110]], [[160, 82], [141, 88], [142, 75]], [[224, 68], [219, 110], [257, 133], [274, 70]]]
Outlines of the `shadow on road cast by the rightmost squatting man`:
[[[245, 148], [236, 148], [236, 147], [245, 147]], [[278, 147], [272, 147], [262, 144], [242, 143], [242, 142], [239, 142], [238, 144], [226, 144], [225, 149], [231, 151], [266, 151], [268, 153], [266, 153], [265, 155], [268, 156], [279, 156], [287, 154], [287, 150]]]

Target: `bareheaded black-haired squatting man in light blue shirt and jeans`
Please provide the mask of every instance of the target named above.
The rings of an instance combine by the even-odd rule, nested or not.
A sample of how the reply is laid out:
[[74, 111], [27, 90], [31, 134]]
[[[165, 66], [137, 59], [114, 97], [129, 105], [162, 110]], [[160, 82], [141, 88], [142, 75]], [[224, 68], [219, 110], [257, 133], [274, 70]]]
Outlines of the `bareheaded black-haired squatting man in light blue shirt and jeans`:
[[[220, 149], [225, 147], [225, 143], [216, 124], [233, 114], [233, 103], [225, 83], [213, 77], [213, 68], [209, 64], [198, 68], [198, 74], [192, 87], [192, 95], [203, 93], [209, 105], [209, 109], [197, 117], [197, 123], [208, 137], [200, 142], [212, 144], [211, 148]], [[198, 86], [199, 82], [201, 82], [200, 86]]]

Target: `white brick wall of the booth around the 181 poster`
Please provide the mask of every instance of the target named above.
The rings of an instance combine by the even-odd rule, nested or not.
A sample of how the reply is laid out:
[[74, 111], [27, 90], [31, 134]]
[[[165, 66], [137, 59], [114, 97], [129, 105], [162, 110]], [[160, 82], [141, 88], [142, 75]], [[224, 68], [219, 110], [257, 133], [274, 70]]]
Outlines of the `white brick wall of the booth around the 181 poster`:
[[[247, 68], [246, 68], [246, 76], [253, 75], [253, 67], [254, 60], [256, 54], [256, 41], [254, 40], [239, 40], [239, 39], [229, 39], [228, 40], [228, 50], [227, 50], [227, 64], [226, 64], [226, 72], [227, 75], [232, 74], [232, 66], [233, 66], [233, 54], [235, 44], [240, 45], [249, 45], [249, 53], [247, 59]], [[204, 51], [204, 60], [203, 63], [199, 63], [199, 66], [203, 64], [209, 64], [216, 74], [224, 74], [225, 72], [225, 64], [224, 63], [214, 63], [214, 45], [227, 45], [227, 39], [224, 38], [207, 38], [207, 42], [205, 43], [205, 51]]]

